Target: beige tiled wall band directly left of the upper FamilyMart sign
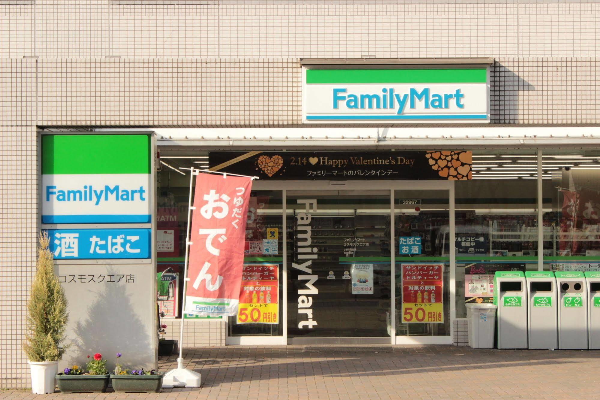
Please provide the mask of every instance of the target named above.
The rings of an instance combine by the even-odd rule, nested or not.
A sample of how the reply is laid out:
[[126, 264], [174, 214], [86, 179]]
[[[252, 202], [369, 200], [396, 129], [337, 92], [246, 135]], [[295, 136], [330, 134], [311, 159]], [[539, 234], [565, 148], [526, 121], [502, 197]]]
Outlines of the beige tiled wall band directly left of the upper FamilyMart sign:
[[38, 59], [38, 79], [38, 124], [43, 126], [301, 120], [297, 59]]

